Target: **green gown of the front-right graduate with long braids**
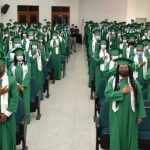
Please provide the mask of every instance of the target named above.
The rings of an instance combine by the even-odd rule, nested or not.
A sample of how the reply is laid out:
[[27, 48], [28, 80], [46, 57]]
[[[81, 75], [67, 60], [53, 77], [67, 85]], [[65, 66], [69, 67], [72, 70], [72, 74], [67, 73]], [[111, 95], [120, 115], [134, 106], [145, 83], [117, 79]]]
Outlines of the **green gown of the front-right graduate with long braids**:
[[[127, 79], [121, 79], [119, 89], [114, 91], [113, 79], [108, 83], [105, 96], [110, 101], [109, 126], [110, 150], [138, 150], [138, 124], [137, 118], [146, 116], [142, 92], [138, 81], [135, 111], [131, 108], [131, 94], [123, 94], [122, 89], [129, 86]], [[113, 111], [112, 103], [118, 102], [119, 109]]]

